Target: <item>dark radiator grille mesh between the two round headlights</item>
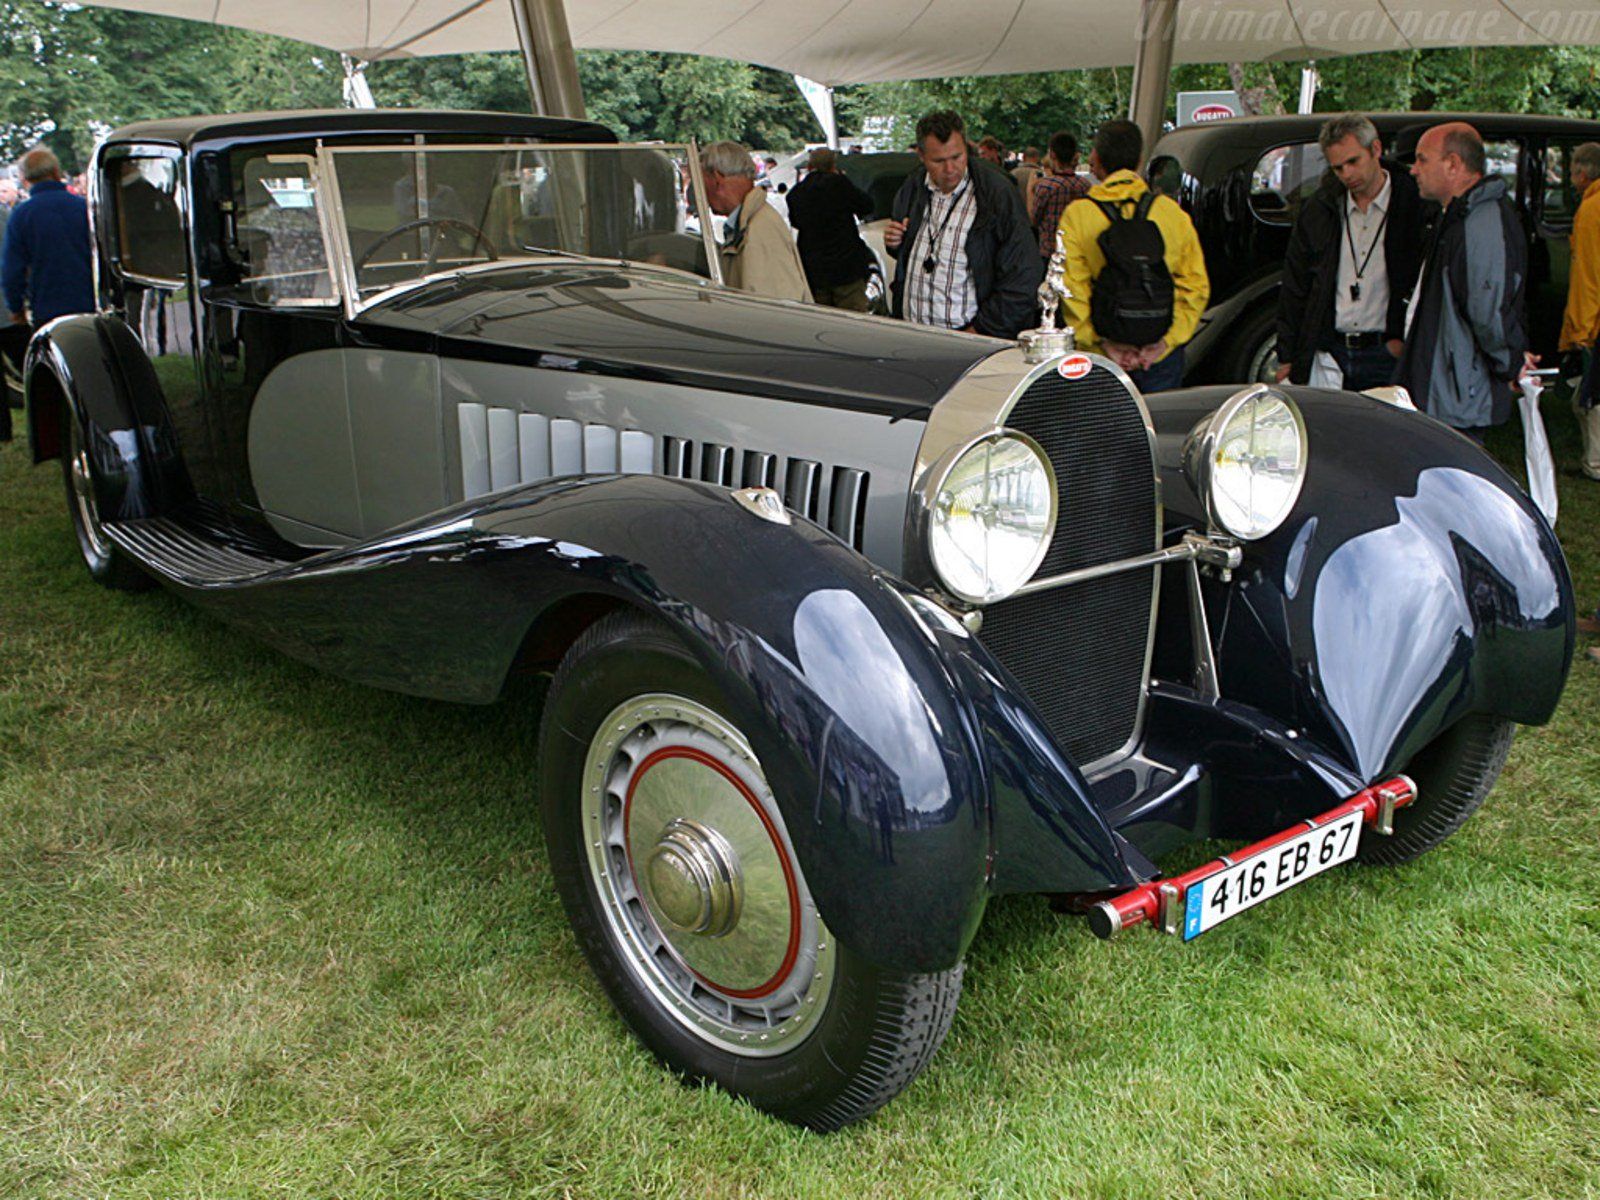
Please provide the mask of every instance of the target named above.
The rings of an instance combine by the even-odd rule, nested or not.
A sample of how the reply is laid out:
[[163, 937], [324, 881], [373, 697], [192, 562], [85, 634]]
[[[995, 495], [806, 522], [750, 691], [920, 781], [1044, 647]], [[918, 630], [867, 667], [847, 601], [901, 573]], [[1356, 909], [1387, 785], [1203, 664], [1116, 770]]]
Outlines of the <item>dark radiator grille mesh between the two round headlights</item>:
[[[1038, 442], [1056, 469], [1056, 536], [1035, 579], [1158, 546], [1149, 435], [1117, 376], [1096, 366], [1069, 382], [1050, 371], [1006, 426]], [[1155, 579], [1155, 568], [1125, 571], [984, 611], [984, 645], [1080, 765], [1114, 754], [1138, 726]]]

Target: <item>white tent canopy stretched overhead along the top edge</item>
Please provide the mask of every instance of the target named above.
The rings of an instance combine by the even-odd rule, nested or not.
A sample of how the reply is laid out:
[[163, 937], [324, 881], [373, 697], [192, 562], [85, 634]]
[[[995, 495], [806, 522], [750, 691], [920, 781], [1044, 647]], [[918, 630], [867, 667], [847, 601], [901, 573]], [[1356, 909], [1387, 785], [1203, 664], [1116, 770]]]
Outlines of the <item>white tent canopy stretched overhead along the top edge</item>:
[[[517, 50], [510, 0], [83, 0], [301, 38], [358, 59]], [[826, 85], [1128, 66], [1139, 0], [565, 0], [579, 48], [674, 50]], [[1165, 5], [1152, 6], [1165, 11]], [[1181, 0], [1178, 62], [1600, 43], [1597, 0]], [[1165, 40], [1165, 38], [1162, 38]]]

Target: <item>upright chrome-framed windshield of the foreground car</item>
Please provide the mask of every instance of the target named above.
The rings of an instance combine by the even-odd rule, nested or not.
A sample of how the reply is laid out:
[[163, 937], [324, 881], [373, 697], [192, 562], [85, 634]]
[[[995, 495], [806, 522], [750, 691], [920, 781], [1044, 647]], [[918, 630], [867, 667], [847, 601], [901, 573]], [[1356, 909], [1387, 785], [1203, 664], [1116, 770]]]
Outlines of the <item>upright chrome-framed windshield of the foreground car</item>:
[[547, 254], [709, 275], [686, 146], [408, 146], [325, 150], [352, 298]]

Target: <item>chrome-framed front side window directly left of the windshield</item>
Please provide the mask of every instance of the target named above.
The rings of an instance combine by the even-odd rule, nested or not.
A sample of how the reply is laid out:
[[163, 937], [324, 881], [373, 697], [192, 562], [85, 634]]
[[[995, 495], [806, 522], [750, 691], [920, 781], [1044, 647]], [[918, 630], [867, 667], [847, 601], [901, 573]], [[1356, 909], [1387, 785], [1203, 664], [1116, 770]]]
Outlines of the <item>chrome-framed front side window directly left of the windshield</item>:
[[322, 306], [336, 299], [317, 216], [312, 160], [246, 158], [237, 176], [240, 286], [258, 304]]

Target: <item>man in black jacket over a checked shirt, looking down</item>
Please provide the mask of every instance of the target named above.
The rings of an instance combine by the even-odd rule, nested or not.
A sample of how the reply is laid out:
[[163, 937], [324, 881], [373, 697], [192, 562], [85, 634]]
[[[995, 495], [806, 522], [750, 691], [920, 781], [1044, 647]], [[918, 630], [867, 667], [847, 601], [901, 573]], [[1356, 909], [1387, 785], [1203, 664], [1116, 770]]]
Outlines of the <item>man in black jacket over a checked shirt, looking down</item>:
[[917, 122], [917, 157], [894, 197], [883, 246], [899, 261], [894, 315], [918, 325], [1016, 338], [1037, 320], [1038, 242], [1016, 184], [966, 155], [954, 112]]

